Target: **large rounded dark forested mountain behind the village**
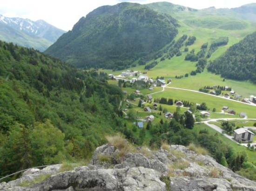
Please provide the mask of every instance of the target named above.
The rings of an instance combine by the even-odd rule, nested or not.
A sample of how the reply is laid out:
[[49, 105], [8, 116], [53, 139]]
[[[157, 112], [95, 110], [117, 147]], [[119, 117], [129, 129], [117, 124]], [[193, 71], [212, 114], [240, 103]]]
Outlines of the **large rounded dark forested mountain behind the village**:
[[81, 18], [46, 53], [82, 68], [121, 70], [177, 34], [176, 20], [135, 3], [102, 6]]

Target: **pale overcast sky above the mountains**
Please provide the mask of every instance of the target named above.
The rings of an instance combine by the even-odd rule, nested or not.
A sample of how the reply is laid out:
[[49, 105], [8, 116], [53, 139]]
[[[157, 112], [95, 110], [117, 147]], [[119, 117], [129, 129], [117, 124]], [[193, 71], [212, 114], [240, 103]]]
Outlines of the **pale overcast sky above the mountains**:
[[[115, 5], [125, 0], [0, 0], [0, 14], [7, 17], [21, 17], [31, 20], [43, 19], [63, 30], [71, 30], [73, 25], [95, 8], [103, 5]], [[127, 0], [141, 4], [164, 0]], [[182, 6], [196, 9], [232, 8], [256, 0], [165, 0]]]

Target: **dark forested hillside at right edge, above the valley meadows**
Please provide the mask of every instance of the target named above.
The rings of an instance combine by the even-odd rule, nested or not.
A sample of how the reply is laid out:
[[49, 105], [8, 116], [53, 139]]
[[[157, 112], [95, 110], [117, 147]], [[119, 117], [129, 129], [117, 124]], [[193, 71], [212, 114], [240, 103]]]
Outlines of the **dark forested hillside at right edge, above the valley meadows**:
[[226, 53], [209, 64], [208, 70], [234, 80], [256, 83], [256, 32], [231, 46]]

